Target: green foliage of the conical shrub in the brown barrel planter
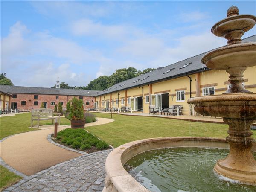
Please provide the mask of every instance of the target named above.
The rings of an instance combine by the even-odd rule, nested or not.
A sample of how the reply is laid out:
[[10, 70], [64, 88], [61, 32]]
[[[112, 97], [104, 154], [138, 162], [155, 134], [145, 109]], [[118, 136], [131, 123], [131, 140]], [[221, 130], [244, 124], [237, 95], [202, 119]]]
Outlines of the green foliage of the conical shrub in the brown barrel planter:
[[73, 97], [69, 117], [72, 120], [84, 119], [83, 101], [81, 99]]

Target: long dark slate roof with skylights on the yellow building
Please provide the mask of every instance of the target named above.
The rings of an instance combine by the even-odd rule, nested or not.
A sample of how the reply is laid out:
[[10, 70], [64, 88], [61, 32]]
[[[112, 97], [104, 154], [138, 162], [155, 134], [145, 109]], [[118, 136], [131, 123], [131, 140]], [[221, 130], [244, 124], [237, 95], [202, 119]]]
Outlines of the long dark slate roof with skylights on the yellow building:
[[[256, 35], [250, 36], [248, 38], [244, 38], [242, 42], [256, 42]], [[174, 64], [170, 64], [166, 67], [158, 68], [152, 72], [146, 73], [141, 76], [134, 77], [132, 79], [128, 79], [126, 81], [122, 81], [109, 87], [106, 90], [103, 90], [101, 94], [104, 95], [107, 93], [113, 93], [119, 90], [125, 90], [132, 87], [139, 87], [145, 84], [150, 84], [153, 82], [164, 81], [166, 79], [174, 79], [180, 76], [186, 76], [193, 73], [197, 73], [200, 71], [207, 70], [207, 67], [201, 62], [201, 58], [207, 52], [201, 53], [199, 55], [195, 55], [191, 58], [187, 58], [183, 61], [179, 61]], [[186, 67], [183, 67], [187, 64]], [[166, 73], [170, 70], [168, 73]], [[138, 81], [137, 81], [138, 80]]]

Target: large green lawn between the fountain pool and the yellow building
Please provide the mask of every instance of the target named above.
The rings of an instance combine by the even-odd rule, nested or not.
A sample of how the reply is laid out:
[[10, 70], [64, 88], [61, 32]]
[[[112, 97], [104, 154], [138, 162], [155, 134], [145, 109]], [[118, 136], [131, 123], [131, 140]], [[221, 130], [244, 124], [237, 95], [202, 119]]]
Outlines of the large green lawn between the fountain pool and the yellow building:
[[[94, 114], [96, 114], [96, 117], [110, 118], [110, 114], [107, 113]], [[118, 114], [113, 114], [113, 119], [115, 119], [114, 122], [86, 127], [86, 130], [113, 147], [152, 137], [201, 136], [225, 138], [228, 136], [228, 125], [226, 124]], [[253, 137], [256, 138], [256, 131], [253, 131]]]

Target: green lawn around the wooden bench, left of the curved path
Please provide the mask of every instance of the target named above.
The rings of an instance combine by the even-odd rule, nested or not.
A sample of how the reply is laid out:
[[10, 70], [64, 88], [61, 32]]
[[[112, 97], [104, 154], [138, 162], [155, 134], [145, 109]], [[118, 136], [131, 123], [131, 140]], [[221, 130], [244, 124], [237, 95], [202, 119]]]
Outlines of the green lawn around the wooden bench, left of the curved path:
[[[34, 122], [36, 124], [36, 122]], [[34, 125], [35, 125], [34, 124]], [[52, 125], [52, 120], [41, 121], [40, 125]], [[61, 125], [70, 125], [70, 120], [61, 118]], [[17, 114], [15, 116], [0, 117], [0, 139], [9, 135], [23, 133], [27, 131], [35, 131], [31, 126], [31, 113]]]

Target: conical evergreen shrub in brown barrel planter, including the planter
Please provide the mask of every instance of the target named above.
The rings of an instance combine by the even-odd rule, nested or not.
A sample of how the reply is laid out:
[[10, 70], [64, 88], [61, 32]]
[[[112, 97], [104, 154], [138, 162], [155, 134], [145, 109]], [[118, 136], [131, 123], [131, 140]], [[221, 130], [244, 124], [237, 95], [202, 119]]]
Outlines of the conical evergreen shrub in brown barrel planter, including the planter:
[[83, 101], [73, 97], [70, 106], [70, 121], [71, 128], [84, 128], [85, 119], [84, 119], [84, 110], [83, 110]]

